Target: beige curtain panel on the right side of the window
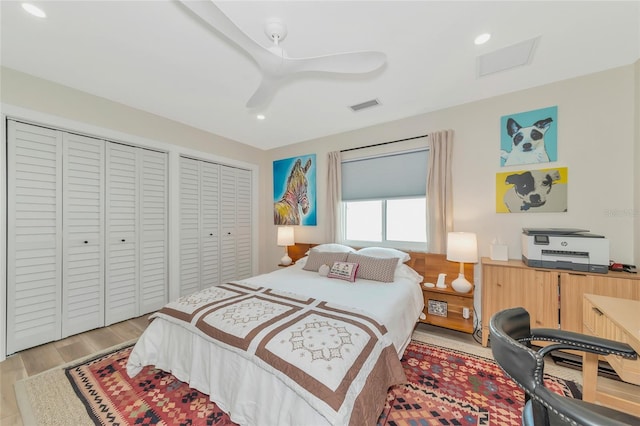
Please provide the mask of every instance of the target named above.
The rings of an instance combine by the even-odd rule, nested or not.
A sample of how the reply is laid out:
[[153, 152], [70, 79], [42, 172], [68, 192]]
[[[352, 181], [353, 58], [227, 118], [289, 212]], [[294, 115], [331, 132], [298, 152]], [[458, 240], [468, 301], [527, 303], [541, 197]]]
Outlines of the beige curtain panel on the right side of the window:
[[451, 157], [453, 130], [429, 132], [427, 173], [427, 242], [429, 253], [447, 252], [447, 233], [453, 230]]

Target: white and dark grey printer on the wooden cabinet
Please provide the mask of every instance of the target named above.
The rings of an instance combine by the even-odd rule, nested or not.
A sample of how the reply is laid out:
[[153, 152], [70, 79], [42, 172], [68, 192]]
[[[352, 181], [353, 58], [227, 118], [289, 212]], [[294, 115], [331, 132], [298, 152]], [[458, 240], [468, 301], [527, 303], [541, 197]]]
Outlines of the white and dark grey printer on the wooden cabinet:
[[531, 267], [609, 271], [609, 240], [587, 229], [522, 228], [522, 261]]

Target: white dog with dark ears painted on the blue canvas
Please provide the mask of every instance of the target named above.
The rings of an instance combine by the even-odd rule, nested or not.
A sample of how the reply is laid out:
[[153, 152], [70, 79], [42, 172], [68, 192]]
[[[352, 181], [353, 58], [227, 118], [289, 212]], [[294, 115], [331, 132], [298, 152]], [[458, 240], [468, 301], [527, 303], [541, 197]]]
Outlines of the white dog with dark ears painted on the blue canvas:
[[511, 138], [511, 151], [502, 150], [505, 166], [548, 163], [544, 134], [551, 126], [551, 117], [538, 120], [532, 126], [522, 127], [513, 118], [507, 120], [507, 134]]

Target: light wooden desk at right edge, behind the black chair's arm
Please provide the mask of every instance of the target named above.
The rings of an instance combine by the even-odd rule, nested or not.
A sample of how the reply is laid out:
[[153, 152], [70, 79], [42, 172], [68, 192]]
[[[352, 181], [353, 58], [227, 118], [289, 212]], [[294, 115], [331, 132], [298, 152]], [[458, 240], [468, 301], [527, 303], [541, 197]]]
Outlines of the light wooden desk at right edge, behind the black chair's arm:
[[[585, 294], [583, 332], [628, 343], [640, 353], [640, 301]], [[582, 399], [640, 415], [640, 358], [609, 355], [606, 360], [626, 383], [598, 380], [598, 356], [585, 353]]]

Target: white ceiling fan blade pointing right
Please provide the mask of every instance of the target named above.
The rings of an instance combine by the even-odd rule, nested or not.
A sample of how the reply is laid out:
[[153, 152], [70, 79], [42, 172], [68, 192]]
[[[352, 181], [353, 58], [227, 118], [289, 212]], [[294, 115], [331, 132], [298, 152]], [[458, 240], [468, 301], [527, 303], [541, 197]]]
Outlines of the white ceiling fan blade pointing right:
[[320, 71], [360, 74], [375, 71], [385, 64], [387, 55], [382, 52], [347, 52], [314, 58], [287, 58], [288, 72]]

